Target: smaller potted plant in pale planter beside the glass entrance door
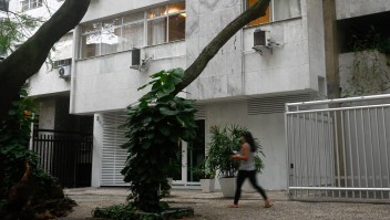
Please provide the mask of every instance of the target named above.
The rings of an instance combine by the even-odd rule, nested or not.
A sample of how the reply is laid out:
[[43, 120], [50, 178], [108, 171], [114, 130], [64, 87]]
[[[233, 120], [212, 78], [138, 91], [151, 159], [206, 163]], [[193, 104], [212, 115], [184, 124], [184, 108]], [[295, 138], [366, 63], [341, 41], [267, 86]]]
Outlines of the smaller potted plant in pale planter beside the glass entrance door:
[[202, 192], [213, 192], [215, 185], [215, 170], [207, 165], [207, 158], [194, 168], [194, 175], [199, 178]]

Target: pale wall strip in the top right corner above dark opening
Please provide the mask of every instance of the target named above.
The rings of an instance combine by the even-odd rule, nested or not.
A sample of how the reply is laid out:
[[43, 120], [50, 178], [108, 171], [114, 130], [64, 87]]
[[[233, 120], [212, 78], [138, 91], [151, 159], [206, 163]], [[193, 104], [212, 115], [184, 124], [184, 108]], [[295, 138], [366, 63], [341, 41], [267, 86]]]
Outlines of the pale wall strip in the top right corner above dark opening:
[[383, 11], [390, 11], [388, 0], [336, 0], [338, 20]]

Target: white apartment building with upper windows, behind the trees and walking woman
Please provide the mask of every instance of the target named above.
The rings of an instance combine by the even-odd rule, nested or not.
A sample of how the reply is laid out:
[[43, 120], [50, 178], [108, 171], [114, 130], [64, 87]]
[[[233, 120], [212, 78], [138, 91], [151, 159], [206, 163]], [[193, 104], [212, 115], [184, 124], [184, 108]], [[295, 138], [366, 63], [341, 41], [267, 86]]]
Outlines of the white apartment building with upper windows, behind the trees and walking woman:
[[[39, 14], [41, 2], [11, 1], [10, 7]], [[253, 3], [92, 0], [80, 25], [58, 43], [54, 69], [42, 66], [29, 81], [40, 103], [39, 127], [93, 133], [91, 186], [125, 185], [120, 171], [126, 153], [119, 147], [125, 138], [117, 126], [124, 123], [124, 108], [146, 92], [137, 88], [155, 72], [189, 66]], [[389, 8], [384, 1], [336, 0], [337, 23]], [[264, 146], [266, 168], [258, 180], [266, 189], [286, 189], [284, 104], [327, 94], [322, 11], [322, 1], [271, 0], [267, 14], [238, 31], [186, 88], [183, 95], [196, 99], [199, 130], [196, 142], [182, 145], [182, 172], [174, 186], [198, 186], [192, 168], [207, 151], [208, 128], [237, 124]], [[336, 35], [335, 42], [342, 41]]]

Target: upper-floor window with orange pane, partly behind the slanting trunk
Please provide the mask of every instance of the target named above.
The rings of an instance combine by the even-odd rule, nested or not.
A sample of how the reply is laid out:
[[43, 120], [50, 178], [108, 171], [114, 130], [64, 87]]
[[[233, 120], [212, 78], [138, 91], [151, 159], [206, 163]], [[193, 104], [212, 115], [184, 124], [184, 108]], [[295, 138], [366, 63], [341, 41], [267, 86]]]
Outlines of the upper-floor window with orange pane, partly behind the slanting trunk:
[[[246, 0], [246, 6], [248, 8], [256, 2], [257, 0]], [[300, 17], [300, 0], [271, 0], [266, 15], [252, 21], [249, 25], [258, 25], [297, 17]]]

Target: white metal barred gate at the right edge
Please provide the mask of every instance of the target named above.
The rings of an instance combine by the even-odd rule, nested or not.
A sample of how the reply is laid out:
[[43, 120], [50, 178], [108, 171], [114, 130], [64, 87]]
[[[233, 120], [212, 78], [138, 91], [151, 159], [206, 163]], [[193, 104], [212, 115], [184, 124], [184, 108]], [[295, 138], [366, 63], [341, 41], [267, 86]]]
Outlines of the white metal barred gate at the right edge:
[[390, 199], [389, 103], [376, 95], [286, 104], [290, 197]]

